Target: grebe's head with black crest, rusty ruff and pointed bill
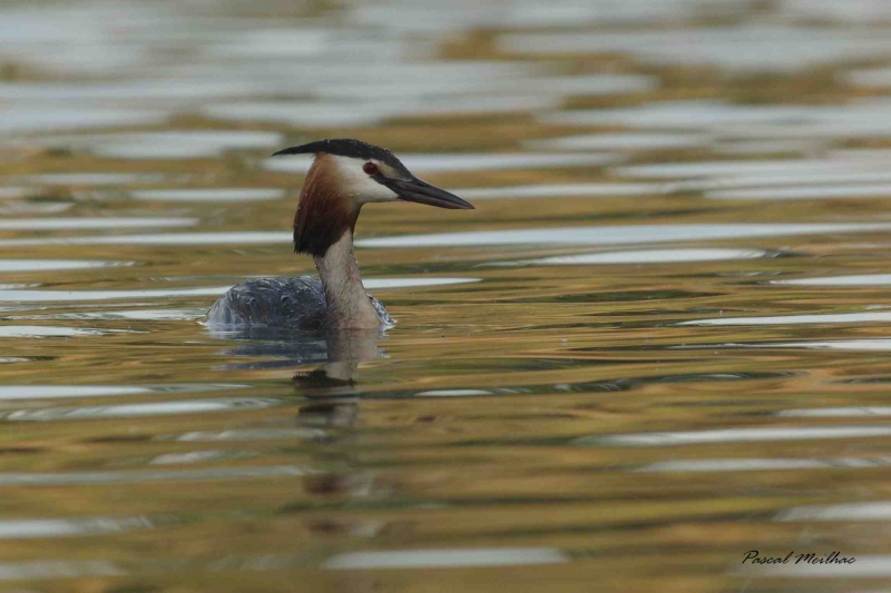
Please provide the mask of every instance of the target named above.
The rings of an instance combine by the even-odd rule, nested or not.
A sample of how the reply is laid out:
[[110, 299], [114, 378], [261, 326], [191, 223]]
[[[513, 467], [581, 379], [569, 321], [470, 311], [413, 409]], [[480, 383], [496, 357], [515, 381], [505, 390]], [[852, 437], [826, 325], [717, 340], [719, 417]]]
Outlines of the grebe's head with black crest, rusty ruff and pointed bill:
[[[275, 155], [313, 154], [315, 159], [294, 216], [294, 250], [323, 256], [347, 230], [362, 205], [415, 201], [438, 208], [472, 209], [458, 196], [414, 177], [389, 150], [361, 140], [320, 140]], [[275, 156], [273, 155], [273, 156]]]

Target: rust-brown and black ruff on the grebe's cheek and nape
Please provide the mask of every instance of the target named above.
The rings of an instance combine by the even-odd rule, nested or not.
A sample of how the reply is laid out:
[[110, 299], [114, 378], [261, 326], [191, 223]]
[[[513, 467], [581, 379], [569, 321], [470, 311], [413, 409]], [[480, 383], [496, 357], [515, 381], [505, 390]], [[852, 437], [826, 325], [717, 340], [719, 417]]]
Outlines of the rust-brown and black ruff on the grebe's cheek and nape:
[[294, 250], [322, 257], [347, 230], [353, 233], [360, 205], [337, 182], [331, 155], [316, 155], [294, 215]]

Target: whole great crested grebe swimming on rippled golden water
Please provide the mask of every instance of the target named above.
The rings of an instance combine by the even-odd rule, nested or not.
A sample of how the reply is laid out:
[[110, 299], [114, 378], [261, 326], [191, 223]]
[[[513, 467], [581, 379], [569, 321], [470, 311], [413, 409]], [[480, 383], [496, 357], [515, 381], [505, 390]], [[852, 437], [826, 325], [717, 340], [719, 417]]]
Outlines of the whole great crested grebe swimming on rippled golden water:
[[208, 325], [371, 329], [391, 324], [383, 305], [365, 293], [353, 255], [353, 233], [362, 206], [403, 200], [438, 208], [473, 208], [418, 179], [379, 146], [353, 139], [320, 140], [275, 152], [304, 154], [315, 158], [294, 216], [294, 250], [313, 256], [321, 281], [309, 276], [245, 280], [210, 307]]

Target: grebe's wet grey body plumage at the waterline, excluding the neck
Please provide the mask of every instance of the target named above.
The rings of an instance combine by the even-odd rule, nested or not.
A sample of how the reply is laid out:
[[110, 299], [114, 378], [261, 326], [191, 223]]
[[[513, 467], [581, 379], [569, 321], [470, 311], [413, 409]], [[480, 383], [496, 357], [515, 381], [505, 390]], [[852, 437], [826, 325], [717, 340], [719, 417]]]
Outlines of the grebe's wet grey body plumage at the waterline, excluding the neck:
[[[393, 324], [383, 304], [369, 297], [382, 325]], [[322, 283], [309, 276], [245, 280], [217, 300], [205, 323], [212, 327], [276, 326], [298, 330], [325, 328], [327, 302]]]

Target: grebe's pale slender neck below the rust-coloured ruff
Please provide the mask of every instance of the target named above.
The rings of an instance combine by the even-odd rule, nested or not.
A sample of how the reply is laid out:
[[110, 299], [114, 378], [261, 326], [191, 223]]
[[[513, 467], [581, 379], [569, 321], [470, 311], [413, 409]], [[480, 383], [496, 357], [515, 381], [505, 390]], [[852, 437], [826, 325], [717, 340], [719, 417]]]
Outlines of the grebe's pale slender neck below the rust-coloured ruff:
[[353, 254], [353, 234], [347, 230], [325, 255], [313, 257], [325, 287], [329, 328], [370, 329], [381, 319], [362, 286], [359, 263]]

